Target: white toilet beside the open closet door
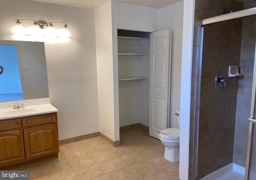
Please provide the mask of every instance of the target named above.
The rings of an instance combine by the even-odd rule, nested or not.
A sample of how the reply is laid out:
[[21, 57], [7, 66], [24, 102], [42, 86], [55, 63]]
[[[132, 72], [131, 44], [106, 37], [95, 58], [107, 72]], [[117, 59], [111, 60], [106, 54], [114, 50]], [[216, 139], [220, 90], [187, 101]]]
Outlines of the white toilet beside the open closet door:
[[164, 144], [164, 158], [171, 162], [180, 159], [180, 112], [176, 112], [178, 128], [168, 128], [158, 133], [159, 139]]

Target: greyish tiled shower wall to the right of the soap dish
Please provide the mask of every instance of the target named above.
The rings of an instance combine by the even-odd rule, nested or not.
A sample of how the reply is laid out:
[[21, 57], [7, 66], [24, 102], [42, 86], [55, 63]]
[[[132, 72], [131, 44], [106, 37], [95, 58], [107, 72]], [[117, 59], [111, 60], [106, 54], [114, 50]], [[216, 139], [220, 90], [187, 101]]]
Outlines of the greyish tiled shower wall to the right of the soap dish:
[[[255, 0], [244, 2], [244, 9], [256, 7]], [[256, 15], [243, 18], [240, 73], [236, 107], [233, 162], [245, 167], [250, 117], [252, 79], [256, 40]]]

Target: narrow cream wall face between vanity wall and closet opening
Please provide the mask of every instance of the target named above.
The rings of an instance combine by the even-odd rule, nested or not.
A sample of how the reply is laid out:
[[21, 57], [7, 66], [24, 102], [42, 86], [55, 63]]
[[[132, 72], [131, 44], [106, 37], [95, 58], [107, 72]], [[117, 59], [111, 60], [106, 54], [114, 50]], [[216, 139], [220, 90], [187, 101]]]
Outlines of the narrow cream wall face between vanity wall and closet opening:
[[95, 14], [100, 132], [114, 138], [114, 89], [111, 2]]

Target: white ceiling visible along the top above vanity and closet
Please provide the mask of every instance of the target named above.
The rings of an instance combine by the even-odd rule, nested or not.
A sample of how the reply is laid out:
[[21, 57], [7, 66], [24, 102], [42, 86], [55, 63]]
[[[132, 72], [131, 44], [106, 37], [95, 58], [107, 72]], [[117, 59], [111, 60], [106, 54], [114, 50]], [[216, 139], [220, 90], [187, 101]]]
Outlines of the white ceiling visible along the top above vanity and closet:
[[[110, 0], [33, 0], [33, 1], [62, 4], [62, 5], [75, 6], [75, 7], [87, 8], [87, 9], [96, 9], [102, 4], [105, 4]], [[140, 6], [147, 6], [151, 8], [163, 8], [165, 6], [169, 6], [170, 4], [174, 4], [181, 0], [114, 0], [114, 1], [124, 2], [128, 4], [136, 4]]]

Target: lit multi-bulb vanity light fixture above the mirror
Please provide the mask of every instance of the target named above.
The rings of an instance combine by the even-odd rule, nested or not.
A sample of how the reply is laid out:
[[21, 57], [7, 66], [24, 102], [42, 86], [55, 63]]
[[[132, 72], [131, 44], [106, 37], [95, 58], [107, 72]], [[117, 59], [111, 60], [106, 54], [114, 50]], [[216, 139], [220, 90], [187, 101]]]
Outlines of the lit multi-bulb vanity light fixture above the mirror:
[[[24, 28], [20, 21], [32, 21], [33, 26]], [[30, 40], [39, 42], [67, 42], [71, 37], [68, 24], [62, 22], [44, 22], [29, 19], [18, 19], [16, 26], [12, 28], [14, 38], [18, 40]], [[54, 24], [64, 24], [63, 29], [55, 29]]]

